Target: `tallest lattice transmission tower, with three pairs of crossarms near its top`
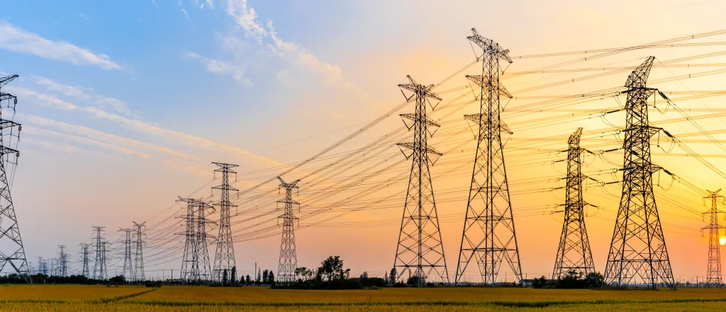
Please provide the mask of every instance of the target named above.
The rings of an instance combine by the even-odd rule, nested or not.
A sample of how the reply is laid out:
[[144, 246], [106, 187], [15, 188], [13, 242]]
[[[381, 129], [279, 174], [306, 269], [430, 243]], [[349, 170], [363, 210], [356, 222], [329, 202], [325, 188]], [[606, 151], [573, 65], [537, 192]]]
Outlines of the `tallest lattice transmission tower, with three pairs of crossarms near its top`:
[[481, 48], [481, 75], [467, 75], [479, 88], [479, 113], [464, 117], [478, 123], [476, 155], [466, 218], [461, 239], [456, 282], [462, 278], [473, 260], [477, 263], [484, 284], [497, 282], [502, 261], [506, 261], [515, 279], [521, 281], [517, 232], [514, 229], [512, 202], [504, 162], [502, 131], [513, 134], [499, 118], [499, 97], [511, 98], [507, 89], [499, 83], [499, 60], [511, 63], [509, 50], [503, 49], [491, 39], [480, 36], [471, 29], [467, 38]]

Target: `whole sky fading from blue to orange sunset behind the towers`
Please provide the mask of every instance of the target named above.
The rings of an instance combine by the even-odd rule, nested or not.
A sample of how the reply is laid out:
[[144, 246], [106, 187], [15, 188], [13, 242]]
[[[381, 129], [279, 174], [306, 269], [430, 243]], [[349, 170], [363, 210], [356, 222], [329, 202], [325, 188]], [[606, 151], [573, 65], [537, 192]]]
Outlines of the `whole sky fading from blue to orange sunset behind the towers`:
[[[251, 273], [255, 263], [277, 270], [280, 229], [276, 216], [280, 212], [274, 202], [281, 195], [275, 181], [258, 185], [401, 104], [396, 85], [406, 82], [406, 75], [430, 84], [456, 73], [437, 85], [437, 90], [467, 86], [463, 75], [477, 74], [479, 66], [465, 67], [475, 58], [466, 39], [475, 27], [510, 49], [514, 57], [502, 74], [502, 83], [515, 99], [510, 111], [505, 107], [502, 118], [515, 133], [503, 138], [522, 268], [530, 277], [550, 274], [562, 225], [561, 213], [552, 211], [564, 198], [561, 189], [550, 190], [563, 186], [557, 177], [565, 174], [563, 163], [553, 163], [563, 157], [556, 151], [566, 149], [567, 137], [579, 126], [585, 128], [584, 147], [616, 148], [621, 137], [599, 135], [597, 129], [624, 125], [622, 113], [590, 118], [571, 114], [618, 107], [625, 96], [548, 112], [538, 112], [544, 106], [537, 103], [544, 96], [620, 87], [630, 70], [608, 70], [611, 74], [587, 79], [583, 77], [598, 72], [517, 75], [587, 54], [517, 56], [616, 48], [719, 30], [719, 12], [726, 9], [723, 1], [601, 2], [133, 0], [4, 4], [0, 72], [20, 75], [3, 91], [18, 97], [15, 121], [23, 124], [12, 197], [28, 260], [37, 263], [37, 257], [55, 257], [57, 245], [68, 245], [72, 271], [77, 271], [81, 259], [78, 243], [89, 242], [91, 226], [106, 226], [106, 237], [114, 243], [109, 267], [121, 271], [123, 259], [117, 253], [123, 244], [117, 230], [131, 227], [132, 221], [147, 221], [147, 274], [160, 276], [179, 270], [183, 237], [174, 233], [181, 231], [182, 224], [174, 217], [181, 214], [182, 207], [175, 200], [177, 196], [217, 198], [219, 194], [213, 194], [210, 187], [221, 181], [213, 174], [211, 162], [225, 162], [240, 165], [234, 183], [241, 190], [239, 199], [235, 197], [239, 207], [232, 220], [237, 265], [243, 274]], [[683, 42], [726, 41], [723, 37]], [[652, 54], [658, 60], [656, 65], [666, 65], [654, 68], [650, 80], [661, 79], [658, 89], [673, 91], [676, 99], [688, 96], [689, 91], [723, 89], [723, 75], [718, 73], [688, 77], [719, 70], [719, 64], [725, 62], [717, 54], [720, 50], [719, 45], [643, 49], [556, 68], [632, 68]], [[707, 53], [714, 55], [679, 60]], [[668, 65], [696, 63], [711, 65]], [[465, 70], [457, 73], [462, 67]], [[681, 78], [670, 79], [674, 76]], [[476, 147], [470, 126], [460, 118], [478, 110], [471, 91], [462, 93], [466, 91], [442, 94], [442, 103], [448, 108], [431, 115], [442, 118], [442, 127], [430, 143], [439, 150], [451, 149], [432, 168], [434, 192], [441, 193], [436, 197], [437, 208], [450, 276], [456, 271]], [[461, 105], [447, 105], [449, 102]], [[704, 97], [678, 103], [690, 115], [706, 116], [696, 119], [698, 126], [718, 131], [725, 117], [719, 111], [721, 102], [722, 97]], [[658, 100], [656, 107], [662, 113], [651, 110], [651, 121], [664, 120], [657, 126], [675, 136], [692, 134], [681, 141], [706, 155], [705, 161], [714, 168], [726, 168], [722, 157], [726, 150], [714, 143], [723, 140], [722, 133], [714, 132], [714, 139], [703, 136], [694, 123], [674, 121], [682, 116], [673, 108], [668, 110], [663, 101]], [[286, 173], [284, 178], [289, 181], [309, 177], [301, 181], [296, 199], [301, 202], [301, 226], [296, 228], [299, 266], [314, 267], [329, 255], [340, 255], [356, 274], [382, 275], [390, 269], [409, 163], [388, 140], [410, 140], [412, 134], [401, 132], [404, 125], [398, 114], [412, 110], [412, 104], [395, 110], [316, 161]], [[449, 112], [452, 115], [446, 115]], [[568, 114], [570, 119], [556, 120]], [[399, 132], [391, 132], [396, 130]], [[385, 136], [389, 133], [391, 136]], [[666, 142], [665, 136], [661, 139]], [[686, 157], [688, 152], [681, 147], [669, 151], [670, 143], [661, 147], [657, 140], [654, 163], [700, 189], [726, 185], [726, 179], [703, 161]], [[381, 153], [378, 158], [335, 163], [336, 157], [354, 152], [367, 157], [367, 149], [362, 147], [376, 141], [385, 145], [375, 149]], [[619, 176], [609, 171], [621, 166], [621, 157], [621, 152], [586, 157], [587, 170], [602, 174], [598, 176], [601, 181], [616, 180]], [[361, 178], [364, 176], [356, 171], [373, 165], [374, 160], [404, 161]], [[330, 172], [317, 171], [324, 166]], [[404, 179], [390, 180], [396, 177]], [[674, 275], [681, 279], [704, 276], [708, 240], [701, 236], [706, 223], [700, 212], [708, 208], [703, 205], [702, 192], [680, 182], [669, 189], [673, 180], [664, 173], [654, 175], [654, 180]], [[359, 193], [383, 184], [383, 190]], [[256, 188], [249, 190], [253, 186]], [[619, 187], [592, 186], [584, 195], [587, 202], [603, 208], [590, 208], [593, 216], [587, 218], [597, 271], [604, 270], [619, 200], [613, 193], [619, 193]], [[533, 189], [549, 191], [530, 192]], [[325, 192], [330, 196], [325, 197]], [[321, 209], [325, 211], [303, 218]], [[261, 230], [266, 227], [269, 229]], [[211, 255], [213, 250], [212, 245]]]

